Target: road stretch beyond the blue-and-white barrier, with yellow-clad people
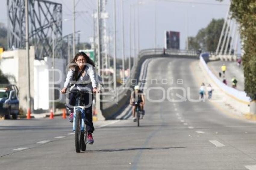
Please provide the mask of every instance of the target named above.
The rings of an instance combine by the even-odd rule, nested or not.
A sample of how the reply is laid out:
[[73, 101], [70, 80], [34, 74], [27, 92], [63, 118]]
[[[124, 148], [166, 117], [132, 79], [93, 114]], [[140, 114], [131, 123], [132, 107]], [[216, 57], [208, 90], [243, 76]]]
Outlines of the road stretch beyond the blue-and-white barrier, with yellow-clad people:
[[[227, 70], [225, 72], [225, 77], [219, 77], [219, 72], [222, 73], [221, 71], [221, 66], [223, 65], [223, 63], [226, 65]], [[244, 77], [244, 73], [243, 73], [243, 67], [241, 65], [241, 67], [239, 68], [237, 66], [237, 62], [234, 61], [211, 61], [207, 63], [208, 67], [210, 68], [210, 70], [213, 72], [213, 74], [215, 74], [216, 77], [218, 77], [221, 81], [223, 81], [223, 79], [225, 78], [227, 81], [227, 85], [232, 87], [232, 78], [235, 76], [237, 79], [237, 85], [236, 85], [236, 89], [239, 91], [244, 91], [245, 90], [245, 77]]]

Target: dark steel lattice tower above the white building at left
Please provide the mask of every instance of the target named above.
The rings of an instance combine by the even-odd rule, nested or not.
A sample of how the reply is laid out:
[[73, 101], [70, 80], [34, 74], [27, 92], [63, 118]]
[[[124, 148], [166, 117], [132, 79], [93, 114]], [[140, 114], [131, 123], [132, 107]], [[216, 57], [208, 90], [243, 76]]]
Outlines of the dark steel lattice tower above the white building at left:
[[[25, 49], [25, 0], [7, 0], [8, 49]], [[35, 58], [52, 57], [52, 37], [55, 36], [55, 56], [63, 58], [62, 5], [46, 0], [29, 0], [29, 42], [35, 46]], [[65, 56], [66, 57], [66, 56]]]

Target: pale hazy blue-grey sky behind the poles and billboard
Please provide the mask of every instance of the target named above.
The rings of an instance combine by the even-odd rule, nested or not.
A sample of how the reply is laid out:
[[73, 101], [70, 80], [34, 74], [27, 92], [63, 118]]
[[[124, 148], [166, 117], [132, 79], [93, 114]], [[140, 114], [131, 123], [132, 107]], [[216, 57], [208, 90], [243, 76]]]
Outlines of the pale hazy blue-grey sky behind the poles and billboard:
[[[0, 6], [0, 22], [7, 25], [7, 0]], [[63, 35], [72, 33], [73, 0], [52, 0], [62, 4]], [[106, 10], [107, 30], [113, 35], [113, 3], [107, 0]], [[139, 17], [137, 14], [138, 0], [124, 0], [124, 32], [125, 32], [125, 56], [129, 48], [129, 8], [131, 12], [131, 26], [133, 30], [133, 18], [139, 18], [140, 50], [155, 47], [155, 16], [157, 47], [164, 47], [164, 31], [180, 32], [180, 48], [185, 49], [187, 34], [195, 36], [199, 29], [206, 27], [214, 19], [224, 18], [228, 10], [229, 0], [218, 2], [216, 0], [140, 0]], [[122, 52], [122, 27], [121, 27], [121, 0], [116, 0], [117, 6], [117, 57]], [[89, 42], [93, 36], [93, 10], [96, 9], [96, 0], [76, 0], [76, 30], [80, 30], [80, 42]], [[134, 10], [136, 11], [134, 13]], [[133, 31], [132, 31], [133, 32]], [[138, 37], [138, 36], [136, 36]], [[137, 39], [136, 39], [137, 41]], [[132, 38], [133, 42], [133, 38]], [[136, 45], [137, 46], [137, 45]], [[112, 49], [113, 42], [110, 43]], [[112, 50], [111, 50], [112, 51]], [[132, 52], [133, 54], [133, 52]]]

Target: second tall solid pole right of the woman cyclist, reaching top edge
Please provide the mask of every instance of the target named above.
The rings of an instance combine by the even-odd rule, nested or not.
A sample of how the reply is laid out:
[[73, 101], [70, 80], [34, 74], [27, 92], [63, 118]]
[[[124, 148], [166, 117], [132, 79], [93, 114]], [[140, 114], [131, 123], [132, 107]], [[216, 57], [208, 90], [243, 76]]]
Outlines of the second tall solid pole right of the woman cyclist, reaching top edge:
[[117, 58], [117, 43], [116, 43], [116, 0], [114, 0], [114, 40], [113, 40], [113, 45], [114, 45], [114, 56], [113, 56], [113, 66], [114, 66], [114, 91], [116, 93], [116, 87], [117, 87], [117, 62], [116, 62], [116, 58]]

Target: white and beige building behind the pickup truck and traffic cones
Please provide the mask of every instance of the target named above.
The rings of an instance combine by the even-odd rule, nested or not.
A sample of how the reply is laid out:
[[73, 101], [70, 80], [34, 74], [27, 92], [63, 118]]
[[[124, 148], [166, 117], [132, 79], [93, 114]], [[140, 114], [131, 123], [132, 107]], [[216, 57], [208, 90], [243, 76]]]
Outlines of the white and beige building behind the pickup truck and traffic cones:
[[[30, 93], [34, 110], [48, 110], [52, 102], [52, 58], [34, 59], [34, 47], [30, 47]], [[18, 49], [2, 53], [0, 69], [19, 89], [20, 108], [26, 109], [27, 73], [26, 50]], [[64, 103], [60, 94], [66, 77], [66, 59], [55, 59], [55, 102]]]

